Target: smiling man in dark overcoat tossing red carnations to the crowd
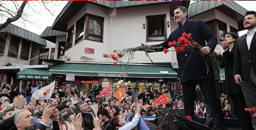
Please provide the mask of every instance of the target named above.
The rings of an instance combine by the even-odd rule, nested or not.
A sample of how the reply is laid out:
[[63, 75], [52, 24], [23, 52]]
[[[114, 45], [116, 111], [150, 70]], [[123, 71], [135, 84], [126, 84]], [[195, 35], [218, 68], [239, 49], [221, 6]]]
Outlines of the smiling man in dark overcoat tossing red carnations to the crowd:
[[[202, 93], [204, 94], [207, 103], [212, 109], [215, 119], [215, 125], [218, 130], [226, 130], [224, 124], [224, 114], [222, 113], [219, 97], [216, 97], [215, 90], [215, 75], [212, 67], [207, 73], [207, 67], [201, 55], [205, 56], [212, 53], [217, 45], [217, 38], [212, 34], [211, 30], [202, 20], [188, 20], [188, 10], [186, 7], [178, 6], [174, 10], [174, 20], [179, 24], [178, 28], [171, 32], [168, 39], [163, 43], [153, 45], [154, 47], [163, 47], [158, 51], [163, 51], [164, 48], [170, 48], [168, 43], [177, 41], [182, 36], [183, 32], [191, 33], [192, 38], [203, 46], [199, 52], [178, 52], [177, 60], [179, 65], [180, 82], [183, 86], [183, 100], [185, 107], [185, 116], [191, 116], [194, 120], [194, 105], [196, 98], [196, 84], [198, 83]], [[207, 41], [207, 45], [206, 42]], [[193, 129], [190, 126], [184, 125], [185, 129]]]

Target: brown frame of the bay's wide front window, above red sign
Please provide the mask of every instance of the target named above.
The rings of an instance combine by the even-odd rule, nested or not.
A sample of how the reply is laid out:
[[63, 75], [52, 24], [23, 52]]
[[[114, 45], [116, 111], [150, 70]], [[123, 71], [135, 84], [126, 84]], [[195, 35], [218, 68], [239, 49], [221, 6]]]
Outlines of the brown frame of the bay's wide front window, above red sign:
[[[94, 34], [89, 34], [90, 19], [91, 18], [101, 20], [101, 35], [100, 36], [99, 35], [94, 35]], [[104, 22], [105, 22], [104, 20], [105, 20], [104, 17], [96, 16], [96, 15], [93, 15], [93, 14], [86, 13], [86, 17], [85, 17], [85, 21], [86, 21], [86, 26], [85, 26], [86, 30], [85, 30], [85, 32], [86, 32], [86, 35], [85, 35], [84, 39], [91, 40], [91, 41], [94, 41], [94, 42], [101, 42], [101, 43], [103, 43], [103, 32], [104, 32]], [[100, 41], [89, 39], [89, 36], [99, 38]]]

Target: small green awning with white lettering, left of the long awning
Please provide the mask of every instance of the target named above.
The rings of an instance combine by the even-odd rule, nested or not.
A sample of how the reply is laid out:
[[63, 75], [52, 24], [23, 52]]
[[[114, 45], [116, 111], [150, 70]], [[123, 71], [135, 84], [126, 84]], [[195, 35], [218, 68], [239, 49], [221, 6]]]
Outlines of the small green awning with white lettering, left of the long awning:
[[24, 69], [17, 73], [17, 79], [53, 81], [54, 77], [48, 72], [48, 70]]

